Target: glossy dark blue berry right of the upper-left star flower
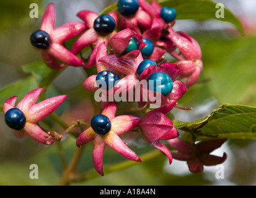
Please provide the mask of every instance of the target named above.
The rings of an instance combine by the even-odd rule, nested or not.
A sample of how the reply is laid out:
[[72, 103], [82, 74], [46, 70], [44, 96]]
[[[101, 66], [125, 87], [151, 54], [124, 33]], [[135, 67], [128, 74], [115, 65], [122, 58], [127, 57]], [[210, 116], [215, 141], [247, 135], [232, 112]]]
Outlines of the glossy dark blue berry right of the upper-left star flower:
[[108, 35], [115, 30], [115, 20], [108, 14], [103, 14], [94, 20], [94, 30], [100, 35]]

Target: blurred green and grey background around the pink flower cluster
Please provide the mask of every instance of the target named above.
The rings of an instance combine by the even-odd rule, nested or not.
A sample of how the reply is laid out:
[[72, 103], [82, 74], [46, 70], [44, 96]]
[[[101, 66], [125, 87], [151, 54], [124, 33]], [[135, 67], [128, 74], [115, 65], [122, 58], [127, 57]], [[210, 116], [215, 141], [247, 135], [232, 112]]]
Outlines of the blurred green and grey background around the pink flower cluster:
[[[38, 19], [29, 17], [31, 3], [39, 7]], [[55, 2], [56, 27], [66, 22], [79, 20], [76, 13], [82, 9], [100, 13], [115, 1], [107, 0], [56, 0], [56, 1], [6, 1], [0, 0], [0, 90], [17, 80], [29, 77], [21, 66], [42, 60], [40, 53], [32, 48], [30, 34], [40, 27], [42, 13], [49, 2]], [[175, 110], [175, 119], [192, 121], [204, 118], [223, 103], [232, 105], [256, 106], [256, 15], [255, 1], [218, 1], [234, 12], [244, 25], [244, 34], [228, 23], [216, 20], [200, 21], [177, 20], [175, 30], [183, 30], [200, 43], [203, 52], [204, 69], [200, 82], [193, 86], [180, 100], [183, 106], [192, 106], [192, 111]], [[67, 80], [70, 79], [70, 80]], [[52, 93], [64, 93], [69, 96], [66, 106], [73, 106], [87, 96], [83, 92], [82, 82], [86, 74], [80, 68], [68, 68], [53, 82]], [[28, 79], [22, 84], [33, 88], [35, 80]], [[22, 88], [19, 87], [18, 88]], [[27, 88], [27, 87], [26, 87]], [[50, 91], [49, 91], [50, 92]], [[4, 92], [0, 92], [4, 94]], [[0, 96], [5, 97], [4, 95]], [[7, 98], [6, 98], [7, 99]], [[2, 104], [1, 104], [2, 105]], [[63, 109], [66, 107], [63, 105]], [[60, 110], [61, 111], [61, 110]], [[86, 114], [86, 113], [85, 113]], [[66, 121], [69, 121], [66, 118]], [[58, 126], [53, 126], [55, 127]], [[129, 142], [131, 149], [138, 155], [153, 148], [140, 139]], [[63, 140], [61, 146], [70, 160], [76, 149], [74, 138]], [[61, 176], [61, 163], [58, 146], [39, 145], [25, 137], [16, 139], [11, 129], [4, 123], [0, 113], [0, 185], [56, 185]], [[77, 185], [255, 185], [256, 184], [256, 144], [254, 140], [229, 140], [216, 155], [227, 153], [224, 162], [225, 178], [216, 179], [214, 166], [206, 167], [203, 173], [192, 174], [185, 162], [174, 160], [168, 165], [163, 155], [154, 160], [138, 163], [125, 170], [106, 174]], [[117, 153], [106, 148], [104, 168], [113, 162], [123, 161]], [[30, 179], [29, 166], [37, 164], [39, 179]], [[79, 171], [94, 172], [92, 165], [92, 144], [86, 146]]]

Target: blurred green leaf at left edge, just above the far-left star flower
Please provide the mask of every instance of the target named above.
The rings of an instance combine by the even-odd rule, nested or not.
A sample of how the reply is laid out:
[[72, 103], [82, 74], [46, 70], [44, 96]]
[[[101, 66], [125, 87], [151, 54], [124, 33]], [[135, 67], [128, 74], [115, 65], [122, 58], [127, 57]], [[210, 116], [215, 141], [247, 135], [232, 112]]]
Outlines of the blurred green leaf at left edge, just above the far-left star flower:
[[34, 77], [28, 77], [25, 79], [18, 80], [13, 84], [7, 85], [0, 90], [0, 104], [3, 105], [4, 102], [14, 95], [19, 96], [17, 101], [23, 98], [27, 93], [33, 89], [38, 88], [37, 81]]

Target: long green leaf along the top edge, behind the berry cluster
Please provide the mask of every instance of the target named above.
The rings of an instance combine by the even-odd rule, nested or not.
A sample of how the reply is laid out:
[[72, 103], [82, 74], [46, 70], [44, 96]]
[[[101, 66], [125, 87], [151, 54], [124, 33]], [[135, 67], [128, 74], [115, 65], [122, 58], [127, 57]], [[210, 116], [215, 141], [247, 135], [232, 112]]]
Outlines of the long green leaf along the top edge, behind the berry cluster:
[[[149, 1], [150, 2], [150, 1]], [[210, 20], [215, 19], [221, 22], [229, 22], [237, 27], [240, 32], [244, 32], [244, 28], [240, 20], [232, 14], [229, 9], [224, 7], [224, 18], [216, 18], [216, 4], [218, 2], [210, 0], [159, 0], [162, 7], [174, 7], [177, 11], [177, 20], [192, 19], [192, 20]], [[110, 11], [118, 11], [117, 3], [108, 6], [101, 14], [107, 14]]]

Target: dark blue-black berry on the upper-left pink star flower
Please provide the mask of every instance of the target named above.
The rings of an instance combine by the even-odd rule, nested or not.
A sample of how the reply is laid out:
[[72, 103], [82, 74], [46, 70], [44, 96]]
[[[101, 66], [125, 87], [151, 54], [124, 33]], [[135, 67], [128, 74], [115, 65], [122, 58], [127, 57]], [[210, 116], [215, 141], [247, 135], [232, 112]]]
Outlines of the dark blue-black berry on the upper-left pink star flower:
[[50, 45], [50, 35], [43, 30], [37, 30], [30, 36], [30, 42], [38, 49], [47, 49]]

